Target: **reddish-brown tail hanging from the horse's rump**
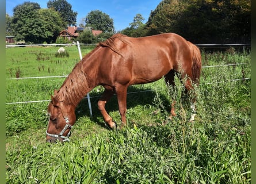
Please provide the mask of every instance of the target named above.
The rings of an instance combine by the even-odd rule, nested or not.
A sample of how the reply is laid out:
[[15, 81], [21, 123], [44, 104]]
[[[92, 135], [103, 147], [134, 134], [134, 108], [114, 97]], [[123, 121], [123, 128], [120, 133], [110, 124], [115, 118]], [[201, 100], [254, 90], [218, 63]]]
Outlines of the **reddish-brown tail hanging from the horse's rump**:
[[192, 48], [192, 81], [196, 84], [199, 83], [200, 81], [200, 75], [201, 75], [201, 52], [200, 52], [200, 49], [190, 43], [190, 47]]

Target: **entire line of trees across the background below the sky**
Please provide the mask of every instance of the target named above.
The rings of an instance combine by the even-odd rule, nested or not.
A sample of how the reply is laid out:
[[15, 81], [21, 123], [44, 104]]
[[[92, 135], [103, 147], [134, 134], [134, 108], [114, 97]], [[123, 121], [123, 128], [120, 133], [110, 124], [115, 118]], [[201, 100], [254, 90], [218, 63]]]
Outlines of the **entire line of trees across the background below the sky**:
[[[120, 33], [132, 37], [174, 32], [196, 44], [250, 43], [250, 0], [163, 0], [151, 10], [146, 23], [137, 13]], [[83, 43], [95, 43], [116, 33], [113, 19], [100, 10], [90, 11], [82, 27], [102, 30], [94, 37], [84, 31], [78, 37]], [[77, 24], [77, 12], [66, 0], [49, 0], [47, 9], [35, 2], [24, 2], [6, 14], [6, 35], [26, 43], [54, 43], [59, 32]]]

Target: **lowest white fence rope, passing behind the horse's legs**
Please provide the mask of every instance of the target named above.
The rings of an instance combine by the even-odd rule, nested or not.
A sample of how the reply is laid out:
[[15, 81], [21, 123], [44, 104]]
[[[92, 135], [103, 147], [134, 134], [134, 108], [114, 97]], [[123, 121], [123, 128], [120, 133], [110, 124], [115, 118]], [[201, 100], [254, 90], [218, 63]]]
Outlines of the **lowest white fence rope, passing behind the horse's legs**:
[[[246, 80], [250, 80], [250, 78], [243, 78], [243, 79], [232, 79], [230, 82], [236, 82], [236, 81], [246, 81]], [[217, 83], [224, 83], [224, 81], [221, 82], [217, 82]], [[208, 83], [202, 83], [201, 85], [212, 85], [213, 82], [208, 82]], [[128, 92], [127, 94], [134, 94], [134, 93], [144, 93], [144, 92], [149, 92], [149, 91], [153, 91], [153, 90], [144, 90], [144, 91], [133, 91], [133, 92]], [[99, 98], [101, 97], [101, 95], [98, 96], [93, 96], [90, 98]], [[83, 97], [83, 99], [88, 99], [87, 97]], [[39, 100], [39, 101], [26, 101], [26, 102], [9, 102], [6, 103], [5, 105], [11, 105], [11, 104], [30, 104], [30, 103], [36, 103], [36, 102], [49, 102], [50, 100]]]

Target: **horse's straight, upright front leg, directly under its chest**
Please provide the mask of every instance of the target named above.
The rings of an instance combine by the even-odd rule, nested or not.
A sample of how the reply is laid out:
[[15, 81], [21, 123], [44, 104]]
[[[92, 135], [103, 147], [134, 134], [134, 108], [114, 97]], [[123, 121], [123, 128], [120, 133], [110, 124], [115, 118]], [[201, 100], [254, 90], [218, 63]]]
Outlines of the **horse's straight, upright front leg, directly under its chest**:
[[119, 113], [121, 116], [121, 127], [124, 127], [126, 122], [126, 112], [127, 112], [127, 89], [128, 86], [119, 85], [116, 86], [117, 101], [119, 104]]

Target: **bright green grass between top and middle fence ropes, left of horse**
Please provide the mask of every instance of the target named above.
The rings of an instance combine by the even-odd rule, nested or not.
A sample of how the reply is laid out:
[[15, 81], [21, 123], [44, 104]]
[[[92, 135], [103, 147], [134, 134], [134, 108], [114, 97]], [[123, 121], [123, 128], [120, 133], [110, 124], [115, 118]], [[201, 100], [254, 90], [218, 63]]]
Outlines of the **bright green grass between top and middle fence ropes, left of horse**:
[[[82, 46], [82, 55], [94, 46]], [[65, 47], [68, 55], [56, 56], [59, 47], [14, 47], [6, 48], [6, 78], [30, 76], [68, 75], [79, 62], [77, 46]]]

